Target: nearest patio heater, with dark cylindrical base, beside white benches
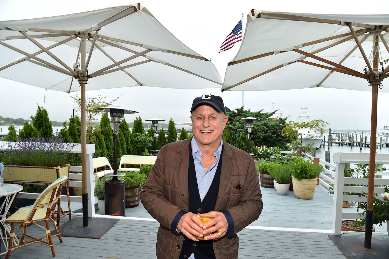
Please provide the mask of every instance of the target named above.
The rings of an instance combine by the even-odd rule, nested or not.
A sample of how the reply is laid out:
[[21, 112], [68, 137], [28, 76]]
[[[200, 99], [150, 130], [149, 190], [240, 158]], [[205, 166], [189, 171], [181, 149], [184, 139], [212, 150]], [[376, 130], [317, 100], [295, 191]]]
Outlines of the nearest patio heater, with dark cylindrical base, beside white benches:
[[126, 175], [117, 173], [117, 134], [119, 133], [119, 125], [123, 122], [124, 113], [138, 112], [120, 106], [106, 106], [96, 110], [109, 112], [110, 122], [114, 124], [114, 172], [105, 174], [112, 176], [112, 179], [105, 181], [105, 215], [126, 216], [126, 184], [123, 179], [117, 178]]

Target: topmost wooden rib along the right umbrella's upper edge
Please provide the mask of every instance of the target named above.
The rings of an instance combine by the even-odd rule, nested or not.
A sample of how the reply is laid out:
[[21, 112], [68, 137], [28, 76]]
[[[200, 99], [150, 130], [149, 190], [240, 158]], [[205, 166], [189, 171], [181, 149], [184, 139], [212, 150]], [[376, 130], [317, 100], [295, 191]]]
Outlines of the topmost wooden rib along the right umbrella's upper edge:
[[[345, 25], [342, 21], [331, 20], [331, 19], [320, 19], [320, 18], [312, 18], [312, 17], [304, 17], [290, 14], [267, 14], [267, 13], [259, 13], [257, 18], [263, 19], [275, 19], [275, 20], [289, 20], [289, 21], [301, 21], [301, 22], [312, 22], [312, 23], [328, 23], [328, 24], [337, 24], [337, 25]], [[353, 23], [353, 26], [370, 28], [374, 29], [374, 25], [364, 24], [364, 23]]]

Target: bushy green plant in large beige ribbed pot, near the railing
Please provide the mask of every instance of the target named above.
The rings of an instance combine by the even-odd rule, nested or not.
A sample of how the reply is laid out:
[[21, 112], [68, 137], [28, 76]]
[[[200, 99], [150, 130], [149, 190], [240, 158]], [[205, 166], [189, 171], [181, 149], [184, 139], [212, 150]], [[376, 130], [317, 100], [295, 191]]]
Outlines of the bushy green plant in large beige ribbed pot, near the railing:
[[323, 171], [322, 165], [314, 165], [303, 158], [296, 158], [292, 167], [293, 193], [296, 198], [310, 200], [316, 190], [317, 175]]

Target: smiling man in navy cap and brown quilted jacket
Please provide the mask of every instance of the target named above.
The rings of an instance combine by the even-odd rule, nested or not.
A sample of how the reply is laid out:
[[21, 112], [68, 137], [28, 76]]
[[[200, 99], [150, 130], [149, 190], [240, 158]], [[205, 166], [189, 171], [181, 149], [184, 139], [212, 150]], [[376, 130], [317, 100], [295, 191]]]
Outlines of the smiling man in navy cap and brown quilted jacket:
[[[221, 97], [195, 98], [191, 120], [193, 137], [161, 148], [140, 194], [161, 224], [157, 258], [236, 259], [236, 233], [258, 219], [263, 208], [254, 161], [223, 141], [228, 117]], [[213, 219], [203, 226], [199, 212]]]

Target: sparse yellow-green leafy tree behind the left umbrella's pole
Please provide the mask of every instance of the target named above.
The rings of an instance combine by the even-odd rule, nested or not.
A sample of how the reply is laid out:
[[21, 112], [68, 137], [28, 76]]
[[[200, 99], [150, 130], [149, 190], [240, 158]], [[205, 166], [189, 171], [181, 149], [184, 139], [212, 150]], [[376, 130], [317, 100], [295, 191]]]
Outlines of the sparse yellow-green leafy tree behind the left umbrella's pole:
[[[70, 97], [72, 97], [76, 101], [78, 105], [77, 111], [81, 111], [81, 97], [79, 97], [78, 94]], [[99, 113], [102, 113], [102, 111], [98, 111], [96, 109], [100, 107], [111, 106], [114, 101], [120, 98], [120, 96], [116, 97], [115, 99], [112, 99], [111, 101], [105, 101], [105, 98], [107, 97], [102, 97], [101, 95], [99, 95], [98, 97], [89, 97], [87, 100], [85, 100], [85, 115], [89, 129], [92, 128], [92, 122], [97, 122], [95, 116]]]

